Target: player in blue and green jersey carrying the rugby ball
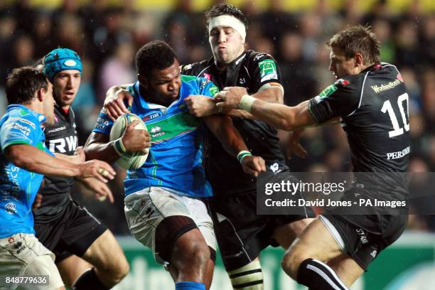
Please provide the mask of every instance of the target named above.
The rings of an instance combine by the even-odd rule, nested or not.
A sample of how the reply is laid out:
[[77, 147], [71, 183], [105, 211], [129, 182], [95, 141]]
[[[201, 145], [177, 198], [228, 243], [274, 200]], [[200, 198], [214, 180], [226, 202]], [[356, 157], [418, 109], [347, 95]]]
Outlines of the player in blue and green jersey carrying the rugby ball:
[[[127, 171], [125, 213], [129, 229], [153, 250], [156, 260], [169, 264], [176, 289], [208, 289], [213, 277], [215, 234], [201, 200], [212, 195], [202, 165], [200, 119], [189, 114], [186, 97], [211, 97], [218, 88], [208, 79], [181, 75], [173, 49], [163, 41], [144, 45], [136, 54], [138, 81], [127, 90], [134, 96], [131, 112], [151, 132], [144, 166]], [[203, 118], [237, 167], [257, 176], [264, 160], [252, 156], [230, 117]], [[112, 120], [102, 109], [85, 151], [88, 157], [113, 162], [145, 146], [124, 139], [109, 142]], [[137, 124], [137, 123], [136, 123]], [[134, 140], [133, 140], [134, 141]], [[227, 182], [227, 181], [225, 181]]]

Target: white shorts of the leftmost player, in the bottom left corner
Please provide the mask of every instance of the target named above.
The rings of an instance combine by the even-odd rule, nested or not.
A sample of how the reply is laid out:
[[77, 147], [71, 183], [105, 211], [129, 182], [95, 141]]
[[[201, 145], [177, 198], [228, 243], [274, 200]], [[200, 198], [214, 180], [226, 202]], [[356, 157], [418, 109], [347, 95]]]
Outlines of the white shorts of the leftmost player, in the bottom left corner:
[[31, 234], [16, 234], [0, 239], [1, 276], [41, 276], [48, 275], [48, 285], [15, 284], [0, 289], [58, 289], [63, 286], [62, 278], [55, 263], [55, 255], [44, 247]]

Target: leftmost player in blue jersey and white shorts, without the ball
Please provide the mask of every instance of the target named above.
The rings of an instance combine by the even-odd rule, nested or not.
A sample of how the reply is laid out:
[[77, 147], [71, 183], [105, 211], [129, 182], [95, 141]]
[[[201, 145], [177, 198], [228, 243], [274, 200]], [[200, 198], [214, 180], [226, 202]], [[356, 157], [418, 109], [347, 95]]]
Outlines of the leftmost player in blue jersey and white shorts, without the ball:
[[[115, 172], [104, 161], [82, 162], [82, 156], [53, 154], [45, 148], [43, 127], [53, 125], [53, 86], [34, 68], [17, 68], [6, 81], [9, 106], [0, 120], [0, 275], [41, 276], [24, 281], [23, 289], [64, 289], [54, 254], [35, 237], [32, 203], [43, 174], [97, 178], [101, 195], [110, 193], [104, 182]], [[57, 157], [57, 158], [55, 158]], [[94, 182], [95, 184], [95, 182]], [[35, 277], [38, 278], [38, 277]], [[6, 285], [4, 284], [6, 282]]]

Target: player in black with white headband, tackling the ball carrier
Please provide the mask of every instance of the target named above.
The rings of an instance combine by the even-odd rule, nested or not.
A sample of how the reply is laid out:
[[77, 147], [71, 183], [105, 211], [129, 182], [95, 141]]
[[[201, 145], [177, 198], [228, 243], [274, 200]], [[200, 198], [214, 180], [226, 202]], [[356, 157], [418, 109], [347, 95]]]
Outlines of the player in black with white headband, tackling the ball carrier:
[[[205, 12], [205, 20], [213, 58], [183, 65], [182, 73], [212, 80], [219, 90], [239, 85], [261, 100], [282, 104], [284, 90], [274, 58], [267, 53], [245, 50], [247, 19], [242, 11], [230, 4], [219, 4]], [[112, 117], [128, 112], [122, 100], [129, 96], [119, 89], [122, 87], [112, 88], [105, 101], [107, 113]], [[273, 127], [252, 119], [243, 110], [220, 112], [207, 97], [188, 97], [186, 102], [189, 111], [197, 117], [229, 114], [249, 151], [265, 159], [267, 171], [279, 178], [291, 178]], [[214, 196], [208, 206], [232, 286], [263, 289], [259, 253], [269, 245], [287, 249], [311, 221], [313, 212], [306, 208], [299, 215], [257, 215], [257, 178], [237, 167], [237, 161], [210, 132], [205, 140], [205, 173], [213, 186]]]

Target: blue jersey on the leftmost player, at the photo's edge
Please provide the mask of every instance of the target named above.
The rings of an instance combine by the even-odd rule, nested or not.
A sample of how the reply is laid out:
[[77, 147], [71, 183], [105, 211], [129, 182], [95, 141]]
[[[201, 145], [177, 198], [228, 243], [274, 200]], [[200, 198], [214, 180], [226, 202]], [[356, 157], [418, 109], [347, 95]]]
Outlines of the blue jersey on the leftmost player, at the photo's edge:
[[44, 121], [42, 114], [20, 104], [9, 105], [0, 119], [0, 238], [35, 233], [32, 204], [43, 175], [15, 166], [6, 159], [4, 150], [14, 144], [28, 144], [51, 154], [45, 148]]

